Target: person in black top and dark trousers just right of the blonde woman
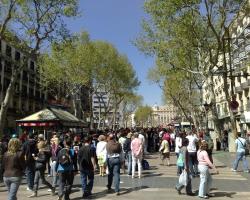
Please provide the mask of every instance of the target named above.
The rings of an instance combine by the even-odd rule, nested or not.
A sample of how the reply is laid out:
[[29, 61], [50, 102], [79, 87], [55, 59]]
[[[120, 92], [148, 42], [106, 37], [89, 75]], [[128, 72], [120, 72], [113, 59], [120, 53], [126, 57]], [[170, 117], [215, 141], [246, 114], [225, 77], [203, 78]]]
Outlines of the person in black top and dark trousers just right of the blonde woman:
[[34, 187], [34, 178], [35, 178], [35, 160], [32, 156], [33, 154], [38, 153], [38, 149], [36, 146], [37, 142], [34, 139], [34, 134], [30, 133], [28, 135], [28, 140], [23, 145], [23, 152], [25, 155], [26, 162], [26, 175], [27, 175], [27, 191], [33, 191]]

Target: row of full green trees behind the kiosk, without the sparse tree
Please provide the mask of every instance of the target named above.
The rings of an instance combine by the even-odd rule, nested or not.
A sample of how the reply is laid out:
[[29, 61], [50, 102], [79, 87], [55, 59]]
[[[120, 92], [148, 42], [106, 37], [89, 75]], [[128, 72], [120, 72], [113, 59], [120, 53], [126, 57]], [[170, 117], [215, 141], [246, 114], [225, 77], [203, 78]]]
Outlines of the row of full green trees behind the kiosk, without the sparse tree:
[[[110, 43], [91, 41], [86, 32], [69, 37], [61, 43], [53, 43], [51, 51], [39, 60], [43, 85], [56, 90], [51, 92], [57, 94], [59, 99], [69, 97], [76, 116], [82, 112], [77, 106], [82, 103], [78, 101], [82, 87], [90, 91], [91, 102], [92, 96], [97, 96], [98, 128], [101, 128], [101, 122], [106, 121], [111, 111], [111, 124], [115, 124], [120, 106], [123, 107], [126, 119], [126, 111], [130, 111], [131, 106], [140, 101], [141, 97], [135, 94], [140, 83], [127, 57], [119, 54]], [[63, 93], [59, 93], [58, 88], [62, 86]], [[90, 122], [93, 122], [92, 112], [89, 117]]]

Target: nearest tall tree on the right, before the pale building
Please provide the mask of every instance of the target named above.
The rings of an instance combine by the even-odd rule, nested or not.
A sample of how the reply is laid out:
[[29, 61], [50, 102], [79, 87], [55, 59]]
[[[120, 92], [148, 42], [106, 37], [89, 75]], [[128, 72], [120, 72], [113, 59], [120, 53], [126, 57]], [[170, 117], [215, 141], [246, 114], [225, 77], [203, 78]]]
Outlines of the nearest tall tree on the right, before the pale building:
[[[203, 80], [213, 80], [215, 72], [217, 75], [218, 71], [222, 72], [224, 92], [229, 105], [232, 94], [229, 95], [227, 86], [230, 63], [225, 59], [228, 55], [228, 46], [225, 45], [228, 37], [226, 33], [229, 22], [238, 13], [243, 2], [243, 0], [148, 0], [145, 2], [145, 11], [150, 18], [143, 22], [144, 32], [136, 44], [146, 54], [156, 55], [163, 60], [167, 68], [201, 75]], [[186, 52], [185, 56], [180, 57], [181, 54], [178, 52], [183, 51]], [[218, 66], [220, 56], [224, 57], [222, 66]], [[188, 58], [195, 62], [190, 62]], [[233, 86], [233, 78], [231, 80]], [[213, 84], [211, 87], [208, 86], [208, 89], [212, 94], [212, 113], [215, 116], [216, 129], [219, 131], [212, 87]], [[233, 118], [231, 112], [232, 128], [236, 133]]]

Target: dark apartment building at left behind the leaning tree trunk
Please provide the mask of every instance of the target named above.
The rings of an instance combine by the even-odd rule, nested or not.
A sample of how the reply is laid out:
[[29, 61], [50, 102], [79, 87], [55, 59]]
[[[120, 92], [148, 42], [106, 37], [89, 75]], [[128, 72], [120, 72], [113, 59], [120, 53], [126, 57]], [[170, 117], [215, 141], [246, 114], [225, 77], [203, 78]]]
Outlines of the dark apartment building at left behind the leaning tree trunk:
[[[3, 101], [14, 66], [11, 61], [20, 62], [24, 56], [21, 49], [17, 49], [5, 41], [0, 41], [0, 100]], [[40, 85], [40, 74], [35, 60], [28, 59], [27, 66], [18, 75], [15, 92], [11, 98], [6, 131], [16, 127], [15, 120], [27, 116], [44, 107], [47, 94]]]

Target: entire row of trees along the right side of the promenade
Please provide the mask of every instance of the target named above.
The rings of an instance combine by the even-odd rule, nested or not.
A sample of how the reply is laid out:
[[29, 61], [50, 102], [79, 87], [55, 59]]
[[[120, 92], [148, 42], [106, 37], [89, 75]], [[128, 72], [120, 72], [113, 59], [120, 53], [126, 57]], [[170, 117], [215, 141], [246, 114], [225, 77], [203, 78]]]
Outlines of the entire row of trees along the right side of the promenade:
[[[219, 74], [229, 105], [234, 95], [233, 90], [229, 93], [229, 85], [234, 86], [228, 67], [231, 65], [229, 24], [233, 17], [249, 13], [249, 1], [147, 0], [144, 8], [149, 17], [143, 21], [143, 32], [135, 44], [145, 54], [156, 57], [149, 78], [159, 84], [166, 99], [177, 105], [187, 119], [193, 116], [193, 122], [198, 124], [195, 113], [204, 102], [201, 93], [204, 82], [213, 83]], [[214, 84], [207, 87], [215, 131], [220, 133]], [[236, 134], [232, 112], [230, 118]]]

